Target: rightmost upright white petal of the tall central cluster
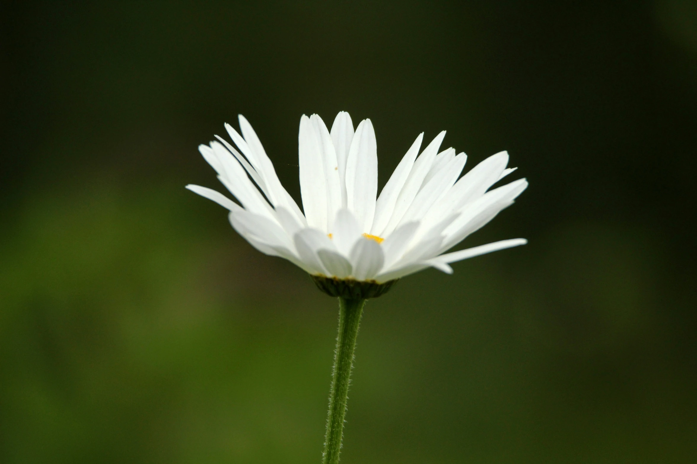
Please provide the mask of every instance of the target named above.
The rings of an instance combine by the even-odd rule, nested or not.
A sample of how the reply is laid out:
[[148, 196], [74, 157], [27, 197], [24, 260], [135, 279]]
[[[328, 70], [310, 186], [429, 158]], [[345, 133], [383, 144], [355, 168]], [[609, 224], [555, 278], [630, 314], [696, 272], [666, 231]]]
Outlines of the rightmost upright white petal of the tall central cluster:
[[369, 232], [378, 193], [378, 152], [375, 131], [369, 119], [355, 131], [346, 159], [346, 207], [364, 232]]

